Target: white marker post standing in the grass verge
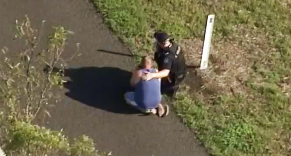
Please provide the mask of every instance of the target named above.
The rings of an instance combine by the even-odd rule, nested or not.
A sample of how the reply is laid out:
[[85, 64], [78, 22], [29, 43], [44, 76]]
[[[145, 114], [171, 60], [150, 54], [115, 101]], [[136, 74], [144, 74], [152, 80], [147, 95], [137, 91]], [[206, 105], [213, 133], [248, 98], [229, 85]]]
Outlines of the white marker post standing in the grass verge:
[[201, 65], [200, 69], [206, 69], [208, 67], [208, 58], [209, 58], [209, 51], [211, 45], [211, 37], [212, 37], [212, 30], [214, 24], [214, 14], [208, 15], [207, 24], [206, 24], [206, 31], [203, 43], [203, 50], [202, 50], [202, 58], [201, 58]]

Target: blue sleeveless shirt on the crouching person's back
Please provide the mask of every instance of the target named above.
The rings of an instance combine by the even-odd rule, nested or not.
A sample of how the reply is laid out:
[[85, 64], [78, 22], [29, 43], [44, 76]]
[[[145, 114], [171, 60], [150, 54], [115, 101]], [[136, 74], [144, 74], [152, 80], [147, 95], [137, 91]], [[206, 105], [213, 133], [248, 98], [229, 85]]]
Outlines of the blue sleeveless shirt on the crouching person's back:
[[[142, 69], [142, 75], [145, 72], [156, 72], [155, 69]], [[151, 80], [145, 81], [140, 79], [140, 81], [135, 85], [134, 94], [135, 103], [145, 109], [156, 108], [157, 105], [162, 100], [161, 87], [158, 78], [152, 78]]]

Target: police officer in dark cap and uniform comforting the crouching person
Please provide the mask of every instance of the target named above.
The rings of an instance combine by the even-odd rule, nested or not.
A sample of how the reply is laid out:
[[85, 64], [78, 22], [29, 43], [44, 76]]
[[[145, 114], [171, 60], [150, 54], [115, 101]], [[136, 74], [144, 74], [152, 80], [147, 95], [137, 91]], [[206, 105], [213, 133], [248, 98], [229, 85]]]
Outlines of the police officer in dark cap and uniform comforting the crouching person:
[[162, 93], [174, 95], [179, 84], [186, 75], [186, 63], [182, 48], [173, 39], [170, 39], [165, 32], [156, 32], [154, 37], [157, 40], [154, 59], [158, 65], [159, 72], [148, 73], [142, 77], [144, 80], [161, 78]]

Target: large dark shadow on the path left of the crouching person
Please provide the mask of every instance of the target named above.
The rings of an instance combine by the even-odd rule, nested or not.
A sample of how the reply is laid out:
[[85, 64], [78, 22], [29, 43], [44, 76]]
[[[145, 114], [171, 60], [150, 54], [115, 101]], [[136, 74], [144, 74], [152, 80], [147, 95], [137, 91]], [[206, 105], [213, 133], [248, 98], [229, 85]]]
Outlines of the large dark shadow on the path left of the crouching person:
[[133, 91], [129, 84], [132, 72], [113, 67], [81, 67], [64, 70], [71, 81], [64, 83], [68, 97], [86, 105], [113, 113], [140, 113], [127, 105], [126, 91]]

